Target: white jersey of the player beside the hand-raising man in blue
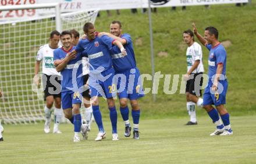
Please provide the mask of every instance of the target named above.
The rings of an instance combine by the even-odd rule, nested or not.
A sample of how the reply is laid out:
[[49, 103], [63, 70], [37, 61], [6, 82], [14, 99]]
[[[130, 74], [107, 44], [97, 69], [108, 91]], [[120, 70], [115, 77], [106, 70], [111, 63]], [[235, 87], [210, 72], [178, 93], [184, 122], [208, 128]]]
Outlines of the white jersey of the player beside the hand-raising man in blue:
[[197, 42], [194, 42], [190, 47], [187, 48], [187, 72], [194, 65], [195, 60], [200, 60], [199, 65], [192, 73], [204, 72], [204, 65], [202, 64], [202, 48]]

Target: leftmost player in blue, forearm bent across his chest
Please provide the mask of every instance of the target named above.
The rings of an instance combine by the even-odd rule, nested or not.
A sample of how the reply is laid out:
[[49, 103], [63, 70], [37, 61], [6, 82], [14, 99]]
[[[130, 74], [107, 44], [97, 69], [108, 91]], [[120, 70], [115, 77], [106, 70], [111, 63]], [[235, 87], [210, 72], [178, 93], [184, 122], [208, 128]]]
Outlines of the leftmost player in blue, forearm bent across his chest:
[[[81, 58], [83, 54], [68, 55], [75, 47], [72, 46], [72, 34], [69, 31], [62, 31], [61, 42], [63, 47], [54, 51], [54, 61], [56, 70], [61, 72], [62, 76], [62, 109], [65, 117], [74, 124], [74, 142], [79, 142], [79, 133], [81, 131], [83, 138], [87, 139], [87, 125], [82, 124], [80, 115], [81, 92], [83, 80], [81, 78], [82, 65]], [[61, 61], [61, 62], [60, 62]]]

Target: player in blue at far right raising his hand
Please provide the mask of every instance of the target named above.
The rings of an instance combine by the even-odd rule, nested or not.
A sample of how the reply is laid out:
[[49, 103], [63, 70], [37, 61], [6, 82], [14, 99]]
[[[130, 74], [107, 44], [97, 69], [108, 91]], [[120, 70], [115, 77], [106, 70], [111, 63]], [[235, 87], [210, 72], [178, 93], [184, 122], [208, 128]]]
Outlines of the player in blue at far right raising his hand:
[[[216, 124], [217, 129], [210, 136], [230, 135], [233, 131], [230, 127], [229, 113], [224, 107], [226, 104], [227, 79], [226, 79], [226, 50], [218, 41], [218, 30], [215, 27], [207, 27], [204, 31], [204, 37], [198, 32], [193, 23], [194, 34], [198, 40], [209, 49], [208, 58], [208, 86], [204, 91], [203, 106], [207, 110], [208, 115]], [[212, 105], [215, 105], [216, 110]], [[219, 114], [221, 119], [219, 119]], [[224, 125], [223, 125], [224, 124]]]

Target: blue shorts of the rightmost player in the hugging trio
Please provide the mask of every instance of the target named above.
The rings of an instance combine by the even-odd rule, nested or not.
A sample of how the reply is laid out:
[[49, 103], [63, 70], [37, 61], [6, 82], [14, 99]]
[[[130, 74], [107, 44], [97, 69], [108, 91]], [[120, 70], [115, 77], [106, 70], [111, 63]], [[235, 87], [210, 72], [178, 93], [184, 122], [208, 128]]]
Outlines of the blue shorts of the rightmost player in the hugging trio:
[[115, 84], [120, 98], [138, 99], [144, 97], [143, 85], [138, 68], [115, 74]]

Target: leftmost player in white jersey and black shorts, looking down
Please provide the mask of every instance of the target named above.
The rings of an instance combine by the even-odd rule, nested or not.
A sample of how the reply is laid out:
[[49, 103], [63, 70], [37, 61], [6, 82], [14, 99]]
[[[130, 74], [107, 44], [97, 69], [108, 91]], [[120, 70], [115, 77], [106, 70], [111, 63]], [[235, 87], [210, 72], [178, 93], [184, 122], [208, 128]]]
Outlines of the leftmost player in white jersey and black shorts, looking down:
[[44, 85], [44, 100], [46, 101], [45, 112], [45, 133], [50, 131], [51, 123], [51, 108], [55, 102], [54, 109], [54, 129], [53, 133], [61, 133], [59, 130], [59, 123], [61, 122], [62, 109], [61, 109], [61, 74], [56, 71], [54, 66], [54, 50], [59, 48], [60, 33], [52, 31], [49, 38], [49, 44], [40, 47], [37, 52], [35, 62], [35, 77], [34, 83], [38, 85], [39, 78], [38, 72], [42, 62], [42, 83]]

